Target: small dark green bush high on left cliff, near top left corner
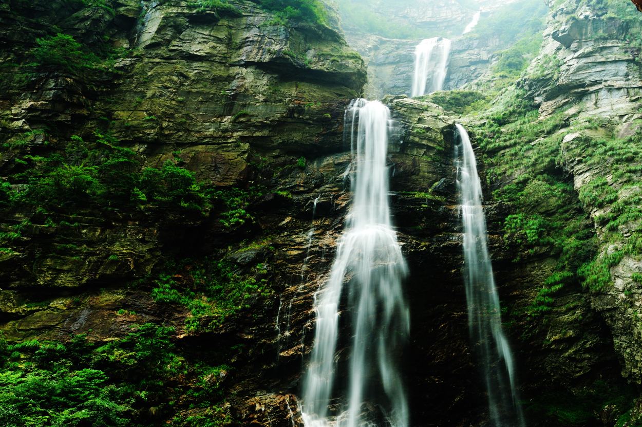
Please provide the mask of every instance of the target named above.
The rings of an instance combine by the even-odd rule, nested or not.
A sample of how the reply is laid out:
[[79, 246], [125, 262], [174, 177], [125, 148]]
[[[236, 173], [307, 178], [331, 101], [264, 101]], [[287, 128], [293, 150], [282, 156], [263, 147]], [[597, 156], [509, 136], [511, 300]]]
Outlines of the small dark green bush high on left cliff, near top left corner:
[[82, 44], [76, 42], [71, 35], [58, 33], [53, 36], [36, 39], [36, 48], [31, 55], [37, 64], [45, 67], [55, 67], [76, 73], [82, 68], [91, 68], [99, 58], [85, 51]]

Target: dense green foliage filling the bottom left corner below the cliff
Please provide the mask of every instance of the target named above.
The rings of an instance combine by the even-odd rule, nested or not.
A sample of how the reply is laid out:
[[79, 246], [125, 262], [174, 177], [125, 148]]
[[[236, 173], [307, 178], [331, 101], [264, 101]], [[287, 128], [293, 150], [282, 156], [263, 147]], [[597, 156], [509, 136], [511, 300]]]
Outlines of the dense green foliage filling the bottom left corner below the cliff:
[[[144, 324], [105, 345], [84, 335], [65, 343], [0, 339], [0, 424], [141, 427], [150, 425], [149, 408], [183, 422], [187, 408], [212, 408], [218, 414], [211, 424], [191, 425], [220, 426], [218, 383], [229, 367], [187, 365], [172, 335], [169, 327]], [[179, 385], [178, 376], [191, 385]]]

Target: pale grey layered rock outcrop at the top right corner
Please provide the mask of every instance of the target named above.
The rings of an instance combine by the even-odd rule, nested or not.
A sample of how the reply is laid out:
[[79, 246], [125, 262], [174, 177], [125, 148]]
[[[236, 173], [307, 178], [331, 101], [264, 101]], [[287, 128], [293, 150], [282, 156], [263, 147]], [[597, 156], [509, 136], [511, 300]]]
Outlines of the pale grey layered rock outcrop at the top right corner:
[[637, 117], [641, 85], [639, 51], [630, 40], [638, 32], [639, 22], [604, 6], [566, 2], [551, 15], [522, 85], [544, 115], [584, 103], [577, 109], [582, 116], [629, 123]]

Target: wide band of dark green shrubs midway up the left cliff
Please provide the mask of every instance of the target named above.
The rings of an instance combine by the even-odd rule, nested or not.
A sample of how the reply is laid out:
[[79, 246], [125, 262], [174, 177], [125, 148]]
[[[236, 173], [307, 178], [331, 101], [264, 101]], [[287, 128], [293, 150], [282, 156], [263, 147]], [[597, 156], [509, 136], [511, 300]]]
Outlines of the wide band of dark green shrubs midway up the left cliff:
[[135, 213], [143, 206], [177, 216], [209, 211], [208, 198], [190, 171], [173, 161], [141, 170], [140, 157], [109, 132], [96, 131], [94, 137], [86, 142], [73, 135], [64, 150], [17, 157], [19, 171], [12, 175], [12, 184], [26, 184], [26, 189], [12, 191], [4, 183], [0, 203], [47, 213], [80, 208]]

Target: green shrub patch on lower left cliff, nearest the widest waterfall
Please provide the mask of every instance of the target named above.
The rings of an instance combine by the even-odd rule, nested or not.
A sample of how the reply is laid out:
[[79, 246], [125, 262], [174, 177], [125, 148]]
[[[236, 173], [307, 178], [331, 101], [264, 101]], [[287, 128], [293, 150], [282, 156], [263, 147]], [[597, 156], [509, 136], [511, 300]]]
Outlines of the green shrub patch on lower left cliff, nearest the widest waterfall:
[[186, 306], [190, 316], [186, 330], [211, 331], [220, 327], [225, 318], [250, 307], [257, 297], [268, 297], [272, 291], [261, 275], [267, 272], [261, 264], [252, 275], [238, 272], [229, 261], [184, 261], [182, 265], [168, 267], [161, 274], [152, 290], [157, 302]]

